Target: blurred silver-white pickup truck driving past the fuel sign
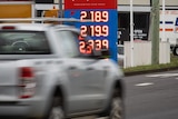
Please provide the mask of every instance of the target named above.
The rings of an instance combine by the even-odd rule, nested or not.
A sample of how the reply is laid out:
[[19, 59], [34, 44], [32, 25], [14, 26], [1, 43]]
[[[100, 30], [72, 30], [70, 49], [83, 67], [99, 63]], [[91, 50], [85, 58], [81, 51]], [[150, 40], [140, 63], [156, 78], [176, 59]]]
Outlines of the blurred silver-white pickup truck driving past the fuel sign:
[[79, 36], [65, 24], [0, 24], [0, 117], [123, 119], [122, 70], [103, 51], [81, 53]]

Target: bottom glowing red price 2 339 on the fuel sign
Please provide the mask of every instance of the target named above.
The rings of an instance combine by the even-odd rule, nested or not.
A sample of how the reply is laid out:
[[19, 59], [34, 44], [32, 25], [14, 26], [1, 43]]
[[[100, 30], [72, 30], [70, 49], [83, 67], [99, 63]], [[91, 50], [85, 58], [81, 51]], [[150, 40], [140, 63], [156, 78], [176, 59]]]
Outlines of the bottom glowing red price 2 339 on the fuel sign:
[[[88, 43], [89, 46], [87, 46]], [[88, 42], [80, 41], [79, 42], [79, 50], [81, 53], [91, 53], [92, 50], [100, 50], [100, 49], [108, 49], [109, 42], [107, 39], [105, 40], [88, 40]], [[87, 46], [87, 48], [86, 48]]]

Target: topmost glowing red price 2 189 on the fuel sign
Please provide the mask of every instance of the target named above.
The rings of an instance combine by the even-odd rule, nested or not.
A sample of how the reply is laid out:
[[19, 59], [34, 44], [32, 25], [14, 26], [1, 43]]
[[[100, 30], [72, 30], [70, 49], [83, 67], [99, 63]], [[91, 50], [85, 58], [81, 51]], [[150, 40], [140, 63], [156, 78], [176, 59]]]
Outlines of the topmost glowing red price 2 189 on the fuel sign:
[[108, 22], [109, 13], [108, 11], [81, 11], [80, 20], [91, 20], [92, 22]]

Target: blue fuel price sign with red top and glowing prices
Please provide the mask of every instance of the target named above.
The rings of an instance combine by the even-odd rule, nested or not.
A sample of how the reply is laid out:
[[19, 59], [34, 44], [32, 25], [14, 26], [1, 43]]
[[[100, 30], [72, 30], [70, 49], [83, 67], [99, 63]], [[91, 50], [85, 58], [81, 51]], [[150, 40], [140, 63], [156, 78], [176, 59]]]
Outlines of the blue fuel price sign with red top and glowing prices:
[[[109, 49], [111, 59], [117, 61], [117, 0], [66, 0], [65, 18], [77, 18], [80, 21], [91, 22], [76, 23], [80, 34], [91, 39], [88, 42], [95, 50]], [[83, 48], [85, 42], [80, 41]], [[79, 49], [81, 49], [79, 48]], [[82, 51], [81, 51], [82, 52]]]

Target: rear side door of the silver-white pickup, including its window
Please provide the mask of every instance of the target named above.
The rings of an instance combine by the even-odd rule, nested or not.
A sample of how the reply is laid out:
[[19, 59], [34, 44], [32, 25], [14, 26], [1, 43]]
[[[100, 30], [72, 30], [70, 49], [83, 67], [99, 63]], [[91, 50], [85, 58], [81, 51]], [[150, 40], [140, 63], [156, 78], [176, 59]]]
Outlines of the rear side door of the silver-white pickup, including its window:
[[70, 113], [91, 111], [96, 106], [93, 102], [95, 93], [91, 93], [91, 89], [87, 86], [95, 83], [89, 78], [95, 77], [91, 76], [95, 68], [88, 67], [90, 60], [80, 57], [77, 39], [71, 31], [59, 30], [57, 37], [62, 53], [63, 70], [68, 76], [68, 111]]

